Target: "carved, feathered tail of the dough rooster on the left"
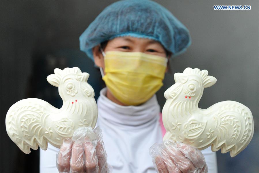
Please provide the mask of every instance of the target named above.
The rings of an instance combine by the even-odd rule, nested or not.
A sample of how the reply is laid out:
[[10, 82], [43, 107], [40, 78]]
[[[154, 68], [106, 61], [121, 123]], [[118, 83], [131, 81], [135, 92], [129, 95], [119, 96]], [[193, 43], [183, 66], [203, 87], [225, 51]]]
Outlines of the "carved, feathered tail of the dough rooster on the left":
[[[18, 101], [24, 102], [26, 106], [17, 106], [20, 103], [16, 102], [10, 107], [5, 118], [8, 136], [26, 154], [31, 153], [30, 148], [37, 150], [38, 145], [44, 150], [47, 149], [47, 141], [43, 135], [45, 128], [41, 125], [41, 119], [45, 117], [44, 109], [35, 104], [33, 99], [35, 98]], [[34, 133], [39, 134], [40, 138]]]

